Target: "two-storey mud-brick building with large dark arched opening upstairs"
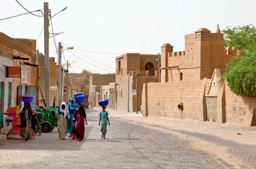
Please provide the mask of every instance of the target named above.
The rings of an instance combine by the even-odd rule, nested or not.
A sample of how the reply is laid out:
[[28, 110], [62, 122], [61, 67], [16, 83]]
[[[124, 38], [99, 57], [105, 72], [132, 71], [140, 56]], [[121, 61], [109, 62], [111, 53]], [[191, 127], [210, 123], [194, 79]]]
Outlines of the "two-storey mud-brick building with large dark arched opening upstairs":
[[157, 59], [157, 55], [139, 53], [127, 53], [116, 57], [116, 109], [128, 110], [129, 105], [129, 111], [136, 111], [136, 95], [133, 95], [133, 91], [136, 91], [135, 70], [137, 69], [137, 100], [140, 110], [143, 83], [159, 82]]

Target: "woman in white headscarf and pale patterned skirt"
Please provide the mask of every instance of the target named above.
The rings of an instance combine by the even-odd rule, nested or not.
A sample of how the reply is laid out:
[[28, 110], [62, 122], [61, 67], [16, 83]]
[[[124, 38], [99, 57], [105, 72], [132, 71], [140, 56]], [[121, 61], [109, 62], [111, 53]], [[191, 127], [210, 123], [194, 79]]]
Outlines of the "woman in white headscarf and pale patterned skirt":
[[70, 120], [68, 106], [65, 102], [61, 103], [61, 107], [58, 109], [58, 129], [59, 129], [59, 138], [62, 140], [66, 140], [66, 131], [68, 128], [68, 123]]

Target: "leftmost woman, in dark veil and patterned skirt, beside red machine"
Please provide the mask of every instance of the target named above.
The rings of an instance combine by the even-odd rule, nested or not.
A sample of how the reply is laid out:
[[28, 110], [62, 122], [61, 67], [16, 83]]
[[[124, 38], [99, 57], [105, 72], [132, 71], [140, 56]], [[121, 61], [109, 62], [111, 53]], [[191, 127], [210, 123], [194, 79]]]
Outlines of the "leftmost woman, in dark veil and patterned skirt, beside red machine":
[[32, 114], [32, 109], [30, 103], [24, 103], [24, 107], [20, 113], [20, 136], [25, 139], [25, 141], [31, 140], [31, 121], [29, 120], [28, 114]]

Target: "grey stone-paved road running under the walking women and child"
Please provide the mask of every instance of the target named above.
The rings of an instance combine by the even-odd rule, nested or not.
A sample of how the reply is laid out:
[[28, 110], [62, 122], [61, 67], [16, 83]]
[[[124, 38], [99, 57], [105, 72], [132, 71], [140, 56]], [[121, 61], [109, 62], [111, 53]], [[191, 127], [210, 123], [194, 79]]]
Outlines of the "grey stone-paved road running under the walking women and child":
[[[225, 168], [174, 135], [111, 118], [107, 139], [102, 140], [95, 110], [87, 110], [87, 118], [83, 142], [58, 140], [56, 129], [33, 141], [8, 140], [0, 146], [0, 168]], [[4, 151], [15, 153], [15, 158], [26, 155], [27, 160], [9, 163], [1, 157]]]

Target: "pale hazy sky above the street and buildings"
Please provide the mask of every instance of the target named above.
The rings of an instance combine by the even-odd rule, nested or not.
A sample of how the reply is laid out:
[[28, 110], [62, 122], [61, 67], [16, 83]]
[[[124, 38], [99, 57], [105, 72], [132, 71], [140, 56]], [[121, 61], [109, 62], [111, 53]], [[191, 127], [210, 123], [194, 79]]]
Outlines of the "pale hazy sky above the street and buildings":
[[[42, 9], [46, 0], [18, 0], [28, 11]], [[184, 50], [184, 35], [199, 28], [215, 32], [227, 26], [256, 25], [255, 0], [49, 0], [49, 32], [62, 42], [62, 64], [72, 63], [73, 73], [115, 73], [115, 57], [124, 53], [157, 54], [163, 43]], [[0, 19], [27, 13], [16, 0], [0, 0]], [[42, 15], [41, 12], [34, 14]], [[44, 53], [43, 17], [26, 14], [0, 20], [0, 32], [12, 38], [38, 39]], [[39, 36], [40, 35], [40, 36]], [[85, 51], [86, 50], [86, 51]], [[50, 57], [57, 54], [49, 39]], [[93, 52], [89, 52], [93, 51]], [[97, 53], [96, 53], [97, 52]], [[102, 52], [102, 53], [98, 53]], [[112, 53], [112, 54], [107, 54]], [[75, 61], [75, 62], [74, 62]]]

